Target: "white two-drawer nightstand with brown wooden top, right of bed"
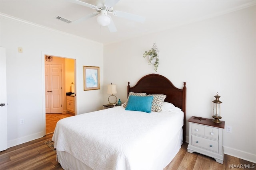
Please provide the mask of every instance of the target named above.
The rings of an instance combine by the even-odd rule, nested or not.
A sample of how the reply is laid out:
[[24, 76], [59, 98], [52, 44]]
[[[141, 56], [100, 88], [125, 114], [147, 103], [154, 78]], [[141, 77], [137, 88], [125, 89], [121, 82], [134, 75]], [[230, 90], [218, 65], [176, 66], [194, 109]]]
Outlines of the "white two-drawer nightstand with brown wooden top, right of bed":
[[222, 145], [222, 133], [225, 122], [214, 123], [213, 119], [202, 118], [188, 119], [189, 122], [189, 143], [188, 152], [198, 152], [210, 156], [216, 162], [223, 164], [224, 149]]

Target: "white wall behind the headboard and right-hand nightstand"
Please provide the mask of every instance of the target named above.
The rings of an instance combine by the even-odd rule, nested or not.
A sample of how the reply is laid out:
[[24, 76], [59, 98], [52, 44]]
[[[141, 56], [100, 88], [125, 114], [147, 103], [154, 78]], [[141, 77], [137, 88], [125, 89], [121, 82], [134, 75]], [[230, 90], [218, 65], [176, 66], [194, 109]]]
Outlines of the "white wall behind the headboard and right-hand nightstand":
[[[187, 116], [212, 118], [212, 100], [221, 96], [224, 153], [256, 162], [255, 6], [208, 20], [104, 46], [104, 87], [117, 84], [122, 103], [127, 82], [144, 75], [166, 76], [177, 88], [187, 82]], [[160, 50], [158, 72], [142, 57], [153, 43]], [[104, 100], [108, 95], [104, 88]], [[187, 123], [188, 141], [188, 123]]]

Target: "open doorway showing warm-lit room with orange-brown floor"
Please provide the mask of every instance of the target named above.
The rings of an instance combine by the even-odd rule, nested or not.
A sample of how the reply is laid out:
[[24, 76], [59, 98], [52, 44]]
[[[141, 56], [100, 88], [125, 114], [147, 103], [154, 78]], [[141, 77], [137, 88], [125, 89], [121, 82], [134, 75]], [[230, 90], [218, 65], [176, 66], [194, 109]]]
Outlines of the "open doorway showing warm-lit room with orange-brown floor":
[[[75, 59], [44, 55], [46, 134], [56, 123], [76, 115]], [[71, 101], [71, 102], [70, 102]]]

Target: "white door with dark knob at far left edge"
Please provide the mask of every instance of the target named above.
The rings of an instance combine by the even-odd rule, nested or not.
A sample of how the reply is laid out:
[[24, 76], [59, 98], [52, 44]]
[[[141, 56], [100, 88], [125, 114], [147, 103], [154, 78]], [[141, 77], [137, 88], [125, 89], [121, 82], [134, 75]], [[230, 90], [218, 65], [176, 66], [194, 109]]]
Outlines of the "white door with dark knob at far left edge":
[[0, 151], [7, 149], [6, 53], [0, 49]]

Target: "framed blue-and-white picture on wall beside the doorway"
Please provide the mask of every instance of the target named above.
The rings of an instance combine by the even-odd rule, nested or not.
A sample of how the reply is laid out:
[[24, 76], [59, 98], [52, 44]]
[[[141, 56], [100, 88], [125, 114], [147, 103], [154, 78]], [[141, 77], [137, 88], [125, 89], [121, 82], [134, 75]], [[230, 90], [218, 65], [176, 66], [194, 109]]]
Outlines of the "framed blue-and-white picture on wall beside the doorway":
[[100, 89], [100, 67], [84, 67], [84, 91]]

